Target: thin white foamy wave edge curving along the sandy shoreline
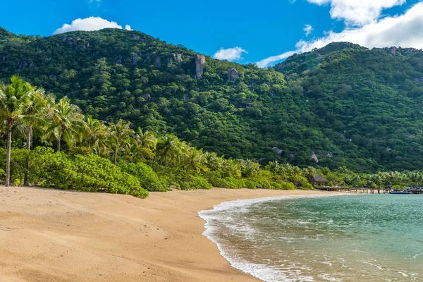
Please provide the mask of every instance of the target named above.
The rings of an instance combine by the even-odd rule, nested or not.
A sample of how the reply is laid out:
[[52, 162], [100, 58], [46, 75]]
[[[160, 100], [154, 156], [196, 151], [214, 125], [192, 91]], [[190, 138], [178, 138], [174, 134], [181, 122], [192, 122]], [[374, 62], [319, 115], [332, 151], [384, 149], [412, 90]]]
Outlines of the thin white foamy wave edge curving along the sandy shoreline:
[[[279, 278], [276, 278], [276, 271], [269, 267], [266, 267], [262, 264], [254, 264], [251, 262], [247, 262], [243, 259], [238, 259], [235, 257], [231, 257], [228, 255], [228, 252], [223, 248], [221, 244], [218, 243], [217, 238], [212, 235], [214, 226], [211, 225], [210, 221], [213, 219], [214, 212], [221, 212], [228, 209], [236, 208], [245, 208], [249, 207], [252, 204], [257, 204], [260, 202], [272, 202], [272, 201], [280, 201], [280, 200], [297, 200], [297, 199], [307, 199], [307, 198], [317, 198], [317, 197], [338, 197], [344, 196], [346, 194], [332, 194], [332, 195], [293, 195], [293, 196], [278, 196], [278, 197], [263, 197], [257, 199], [249, 199], [249, 200], [235, 200], [235, 201], [228, 201], [222, 202], [221, 204], [216, 204], [213, 209], [206, 209], [198, 213], [206, 223], [204, 223], [204, 228], [206, 229], [202, 234], [212, 240], [219, 249], [221, 256], [226, 259], [229, 264], [235, 269], [239, 269], [246, 274], [250, 274], [259, 278], [262, 281], [266, 282], [281, 282]], [[314, 281], [312, 277], [303, 277], [298, 278], [295, 280], [284, 278], [284, 282], [292, 282], [292, 281]]]

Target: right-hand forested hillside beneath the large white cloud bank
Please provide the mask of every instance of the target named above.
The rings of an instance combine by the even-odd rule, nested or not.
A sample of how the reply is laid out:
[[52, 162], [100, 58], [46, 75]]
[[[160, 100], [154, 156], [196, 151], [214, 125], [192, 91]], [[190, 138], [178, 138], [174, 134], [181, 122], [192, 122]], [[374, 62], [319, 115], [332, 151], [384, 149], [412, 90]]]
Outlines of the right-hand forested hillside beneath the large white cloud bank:
[[308, 125], [357, 164], [423, 167], [423, 51], [340, 42], [292, 56], [275, 70], [307, 99], [314, 116]]

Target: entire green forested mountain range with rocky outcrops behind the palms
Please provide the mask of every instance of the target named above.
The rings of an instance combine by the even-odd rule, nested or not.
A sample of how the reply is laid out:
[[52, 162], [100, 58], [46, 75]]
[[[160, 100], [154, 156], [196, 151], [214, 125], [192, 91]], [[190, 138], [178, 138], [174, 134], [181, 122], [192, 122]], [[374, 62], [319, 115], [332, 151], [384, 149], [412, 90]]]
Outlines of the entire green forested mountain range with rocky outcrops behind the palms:
[[266, 70], [142, 32], [26, 37], [0, 29], [0, 80], [14, 73], [85, 114], [175, 133], [226, 157], [355, 171], [423, 167], [423, 52], [414, 49], [336, 43]]

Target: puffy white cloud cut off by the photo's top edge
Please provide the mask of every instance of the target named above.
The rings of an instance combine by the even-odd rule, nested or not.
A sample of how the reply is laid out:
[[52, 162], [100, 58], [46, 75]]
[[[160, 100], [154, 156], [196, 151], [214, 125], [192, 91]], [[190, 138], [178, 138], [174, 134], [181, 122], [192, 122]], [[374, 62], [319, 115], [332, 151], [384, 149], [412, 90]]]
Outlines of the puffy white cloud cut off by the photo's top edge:
[[406, 0], [307, 0], [317, 5], [331, 5], [331, 17], [347, 25], [363, 26], [381, 16], [384, 8], [402, 5]]

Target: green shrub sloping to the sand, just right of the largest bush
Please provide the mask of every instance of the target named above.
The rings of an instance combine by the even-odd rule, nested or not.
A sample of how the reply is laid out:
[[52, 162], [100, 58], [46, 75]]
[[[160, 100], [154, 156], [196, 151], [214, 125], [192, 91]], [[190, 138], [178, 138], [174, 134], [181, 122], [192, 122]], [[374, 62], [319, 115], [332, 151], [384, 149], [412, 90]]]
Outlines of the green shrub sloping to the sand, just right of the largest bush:
[[122, 171], [135, 176], [139, 181], [142, 188], [149, 191], [166, 192], [169, 190], [166, 187], [166, 183], [162, 181], [159, 176], [153, 171], [153, 169], [144, 163], [119, 163], [119, 167]]

